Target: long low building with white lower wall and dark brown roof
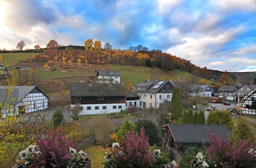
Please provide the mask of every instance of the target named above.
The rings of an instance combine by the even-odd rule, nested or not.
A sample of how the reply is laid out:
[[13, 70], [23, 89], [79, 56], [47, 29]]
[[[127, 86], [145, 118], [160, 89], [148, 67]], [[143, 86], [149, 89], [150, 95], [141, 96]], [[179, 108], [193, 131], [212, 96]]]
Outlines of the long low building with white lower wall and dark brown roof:
[[125, 110], [121, 84], [66, 83], [70, 88], [71, 107], [80, 106], [79, 115], [119, 113]]

